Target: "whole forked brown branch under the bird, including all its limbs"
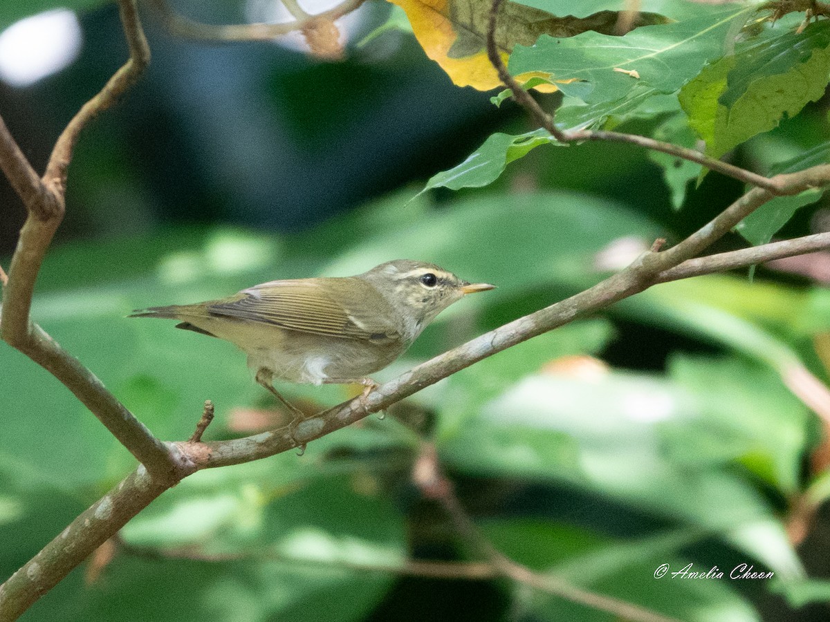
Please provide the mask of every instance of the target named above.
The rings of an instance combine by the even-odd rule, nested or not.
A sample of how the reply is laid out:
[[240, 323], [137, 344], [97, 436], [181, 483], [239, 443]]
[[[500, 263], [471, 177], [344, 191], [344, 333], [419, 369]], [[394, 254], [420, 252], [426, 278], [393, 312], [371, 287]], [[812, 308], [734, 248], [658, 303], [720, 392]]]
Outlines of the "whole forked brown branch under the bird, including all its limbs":
[[[161, 0], [153, 1], [161, 2]], [[496, 14], [500, 2], [502, 0], [494, 2], [493, 15]], [[354, 0], [348, 6], [356, 3], [357, 0]], [[346, 6], [347, 4], [341, 5], [341, 7]], [[658, 148], [680, 157], [689, 156], [692, 159], [693, 155], [694, 158], [698, 158], [694, 161], [753, 183], [756, 187], [673, 248], [665, 251], [659, 251], [657, 248], [650, 250], [625, 270], [604, 279], [590, 289], [523, 318], [518, 318], [450, 352], [445, 352], [422, 363], [393, 381], [378, 387], [365, 401], [356, 398], [302, 420], [296, 425], [271, 430], [260, 435], [236, 440], [203, 442], [201, 431], [209, 422], [210, 414], [210, 408], [207, 407], [203, 423], [198, 426], [191, 440], [164, 445], [135, 420], [133, 415], [115, 399], [115, 396], [112, 396], [80, 362], [61, 350], [46, 333], [29, 320], [29, 307], [37, 272], [51, 236], [61, 221], [66, 169], [71, 161], [72, 148], [77, 136], [95, 114], [110, 106], [129, 88], [129, 85], [134, 83], [149, 58], [145, 55], [146, 43], [135, 13], [134, 0], [120, 0], [120, 7], [125, 32], [130, 41], [130, 61], [113, 76], [99, 95], [81, 109], [76, 119], [73, 119], [65, 132], [61, 134], [46, 169], [46, 176], [42, 180], [32, 171], [32, 167], [22, 156], [22, 152], [8, 134], [5, 125], [0, 124], [0, 168], [12, 181], [13, 187], [21, 195], [29, 212], [26, 225], [21, 233], [18, 250], [12, 260], [8, 284], [3, 291], [0, 333], [8, 343], [12, 343], [22, 352], [27, 353], [70, 387], [144, 466], [139, 467], [118, 487], [81, 514], [81, 517], [76, 519], [61, 536], [56, 537], [26, 566], [23, 566], [11, 579], [0, 586], [0, 620], [13, 620], [17, 615], [22, 614], [32, 602], [61, 581], [63, 576], [83, 561], [90, 552], [115, 535], [115, 532], [129, 518], [139, 513], [153, 498], [195, 470], [250, 462], [305, 445], [311, 440], [362, 419], [370, 413], [382, 411], [404, 397], [483, 358], [558, 328], [576, 318], [595, 313], [609, 304], [647, 289], [652, 284], [830, 248], [828, 234], [822, 234], [821, 237], [808, 236], [795, 241], [776, 242], [755, 249], [694, 259], [745, 216], [769, 202], [773, 197], [779, 194], [795, 194], [810, 187], [828, 186], [830, 166], [819, 166], [800, 173], [769, 179], [743, 169], [733, 171], [729, 165], [710, 160], [697, 152], [684, 155], [673, 145], [657, 143], [649, 138], [624, 138], [627, 137], [626, 134], [615, 133], [580, 134], [579, 138], [574, 138], [573, 133], [559, 132], [554, 127], [553, 120], [544, 116], [543, 127], [548, 128], [557, 138], [562, 136], [569, 140], [625, 140], [647, 148]], [[495, 21], [491, 21], [488, 51], [493, 47], [494, 24]], [[500, 75], [502, 71], [506, 75], [504, 64], [500, 63], [500, 58], [498, 61], [498, 66], [501, 68]], [[520, 85], [515, 84], [515, 80], [511, 84], [512, 78], [509, 76], [508, 78], [505, 84], [511, 86], [515, 94], [525, 93], [527, 95]], [[521, 97], [522, 95], [519, 95], [520, 100]], [[530, 95], [527, 95], [527, 98], [532, 101]], [[544, 111], [542, 112], [544, 114]], [[144, 469], [145, 466], [146, 469]], [[512, 576], [517, 579], [521, 571], [520, 566], [503, 565], [500, 568], [503, 574], [510, 576], [510, 573], [513, 573]], [[530, 580], [525, 582], [530, 583]], [[540, 589], [543, 589], [541, 584]], [[571, 596], [576, 595], [572, 587], [567, 586], [567, 590]], [[554, 590], [552, 593], [559, 592]], [[595, 599], [594, 606], [600, 606], [598, 603], [604, 597], [590, 596]], [[588, 600], [583, 599], [586, 603]], [[623, 615], [623, 610], [618, 608], [618, 612]], [[624, 615], [636, 615], [636, 613], [636, 608], [624, 610]], [[637, 619], [646, 620], [647, 617], [640, 616]]]

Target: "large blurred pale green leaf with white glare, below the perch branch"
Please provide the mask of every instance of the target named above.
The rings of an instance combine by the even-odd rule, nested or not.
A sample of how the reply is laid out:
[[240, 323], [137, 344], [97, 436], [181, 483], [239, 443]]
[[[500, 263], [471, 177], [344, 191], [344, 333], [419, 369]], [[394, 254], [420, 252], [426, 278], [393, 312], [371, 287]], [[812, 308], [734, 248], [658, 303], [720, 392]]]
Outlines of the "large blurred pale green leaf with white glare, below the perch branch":
[[[798, 557], [754, 475], [725, 467], [791, 491], [806, 442], [803, 406], [765, 370], [753, 377], [740, 365], [686, 365], [698, 375], [691, 380], [708, 384], [630, 373], [525, 377], [445, 435], [442, 456], [467, 473], [565, 484], [719, 533], [798, 576]], [[711, 400], [718, 384], [721, 399]], [[736, 413], [732, 400], [742, 394], [753, 399]], [[452, 406], [442, 416], [453, 417]]]

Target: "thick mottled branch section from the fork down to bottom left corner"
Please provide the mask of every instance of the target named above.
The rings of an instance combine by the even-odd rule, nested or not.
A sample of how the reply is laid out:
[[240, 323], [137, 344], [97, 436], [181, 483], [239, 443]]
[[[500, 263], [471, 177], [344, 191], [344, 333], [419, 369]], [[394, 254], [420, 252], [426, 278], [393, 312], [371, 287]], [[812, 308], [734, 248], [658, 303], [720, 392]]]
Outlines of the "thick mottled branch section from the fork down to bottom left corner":
[[143, 466], [129, 474], [0, 586], [0, 622], [17, 620], [167, 488]]

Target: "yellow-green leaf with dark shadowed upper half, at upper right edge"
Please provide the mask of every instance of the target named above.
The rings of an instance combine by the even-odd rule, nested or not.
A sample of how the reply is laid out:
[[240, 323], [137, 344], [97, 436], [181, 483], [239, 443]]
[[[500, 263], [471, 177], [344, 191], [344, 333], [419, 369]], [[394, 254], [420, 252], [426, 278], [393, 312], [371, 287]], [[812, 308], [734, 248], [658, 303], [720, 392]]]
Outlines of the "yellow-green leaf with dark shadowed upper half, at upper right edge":
[[715, 158], [793, 117], [824, 94], [830, 72], [830, 22], [803, 33], [767, 30], [735, 55], [707, 66], [681, 92], [691, 126]]

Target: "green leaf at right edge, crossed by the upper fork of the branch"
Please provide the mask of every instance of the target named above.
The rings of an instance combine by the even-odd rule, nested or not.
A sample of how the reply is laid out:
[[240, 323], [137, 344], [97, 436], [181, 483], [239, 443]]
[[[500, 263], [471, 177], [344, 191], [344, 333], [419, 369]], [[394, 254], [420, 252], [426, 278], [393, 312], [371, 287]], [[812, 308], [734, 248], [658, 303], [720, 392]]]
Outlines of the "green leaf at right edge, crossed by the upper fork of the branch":
[[[770, 175], [797, 173], [805, 168], [830, 162], [830, 142], [816, 145], [812, 149], [776, 165]], [[766, 244], [801, 207], [817, 202], [823, 189], [810, 188], [794, 197], [774, 197], [738, 223], [735, 231], [744, 236], [750, 244]]]

